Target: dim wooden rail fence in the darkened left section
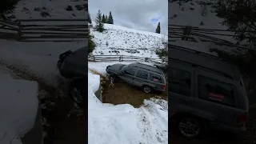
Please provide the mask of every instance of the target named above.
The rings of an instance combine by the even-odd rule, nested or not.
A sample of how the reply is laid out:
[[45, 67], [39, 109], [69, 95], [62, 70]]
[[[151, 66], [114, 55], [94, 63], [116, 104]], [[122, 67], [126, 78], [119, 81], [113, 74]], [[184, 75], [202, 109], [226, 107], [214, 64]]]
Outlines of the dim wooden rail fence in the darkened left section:
[[18, 19], [0, 21], [0, 38], [17, 41], [82, 41], [88, 19]]

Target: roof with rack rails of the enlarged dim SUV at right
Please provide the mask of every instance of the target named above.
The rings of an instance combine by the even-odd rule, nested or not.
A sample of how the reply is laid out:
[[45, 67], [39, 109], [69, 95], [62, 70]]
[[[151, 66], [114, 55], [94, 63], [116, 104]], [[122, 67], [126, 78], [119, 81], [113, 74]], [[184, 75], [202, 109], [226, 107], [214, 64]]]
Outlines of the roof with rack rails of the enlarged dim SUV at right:
[[240, 79], [238, 78], [240, 73], [235, 69], [234, 64], [226, 59], [182, 46], [169, 45], [169, 48], [173, 49], [168, 57], [170, 61], [187, 63], [191, 66], [221, 74], [226, 78]]

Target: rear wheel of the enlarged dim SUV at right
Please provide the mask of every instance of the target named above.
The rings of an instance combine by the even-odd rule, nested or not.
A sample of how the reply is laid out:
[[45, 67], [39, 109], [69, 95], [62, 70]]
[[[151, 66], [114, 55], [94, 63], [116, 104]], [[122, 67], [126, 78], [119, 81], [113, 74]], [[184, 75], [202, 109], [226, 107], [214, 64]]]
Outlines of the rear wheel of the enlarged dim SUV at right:
[[200, 118], [187, 115], [178, 118], [177, 130], [183, 137], [192, 139], [206, 134], [207, 125]]

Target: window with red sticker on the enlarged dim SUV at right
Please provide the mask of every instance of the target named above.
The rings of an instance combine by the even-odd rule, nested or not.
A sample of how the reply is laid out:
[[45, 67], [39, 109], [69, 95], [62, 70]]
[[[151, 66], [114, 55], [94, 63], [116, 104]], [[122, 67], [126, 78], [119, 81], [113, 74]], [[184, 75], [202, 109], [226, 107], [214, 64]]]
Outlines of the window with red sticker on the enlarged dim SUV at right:
[[198, 76], [198, 98], [226, 106], [235, 106], [235, 87], [212, 78]]

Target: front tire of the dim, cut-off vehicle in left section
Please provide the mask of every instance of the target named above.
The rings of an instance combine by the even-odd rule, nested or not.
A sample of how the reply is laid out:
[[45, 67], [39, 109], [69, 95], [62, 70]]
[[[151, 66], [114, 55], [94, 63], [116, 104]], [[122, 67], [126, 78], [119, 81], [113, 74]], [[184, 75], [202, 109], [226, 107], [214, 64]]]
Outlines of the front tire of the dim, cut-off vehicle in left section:
[[85, 106], [85, 98], [86, 98], [86, 81], [83, 79], [76, 79], [70, 82], [69, 86], [69, 96], [70, 98], [78, 104], [78, 106]]

